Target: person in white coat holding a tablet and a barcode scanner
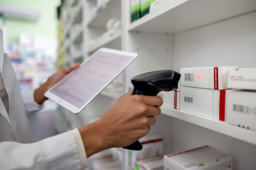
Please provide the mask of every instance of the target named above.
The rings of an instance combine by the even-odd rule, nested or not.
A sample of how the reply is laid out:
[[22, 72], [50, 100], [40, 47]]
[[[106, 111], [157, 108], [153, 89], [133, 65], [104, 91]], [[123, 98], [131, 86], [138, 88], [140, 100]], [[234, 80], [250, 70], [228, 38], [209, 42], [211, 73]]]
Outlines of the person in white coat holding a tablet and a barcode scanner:
[[[27, 115], [39, 111], [44, 92], [79, 64], [62, 69], [38, 89], [21, 96], [0, 30], [0, 169], [72, 170], [87, 167], [87, 157], [104, 149], [127, 146], [150, 130], [160, 114], [162, 98], [121, 96], [98, 121], [34, 142]], [[24, 104], [23, 104], [24, 102]]]

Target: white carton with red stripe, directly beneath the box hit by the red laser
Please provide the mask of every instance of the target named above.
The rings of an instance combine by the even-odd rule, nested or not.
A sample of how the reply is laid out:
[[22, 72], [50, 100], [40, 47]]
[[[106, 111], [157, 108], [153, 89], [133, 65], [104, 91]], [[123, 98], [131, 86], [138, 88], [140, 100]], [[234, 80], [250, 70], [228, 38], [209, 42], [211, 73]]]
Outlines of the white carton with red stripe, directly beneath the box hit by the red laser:
[[227, 90], [180, 87], [180, 110], [225, 121]]

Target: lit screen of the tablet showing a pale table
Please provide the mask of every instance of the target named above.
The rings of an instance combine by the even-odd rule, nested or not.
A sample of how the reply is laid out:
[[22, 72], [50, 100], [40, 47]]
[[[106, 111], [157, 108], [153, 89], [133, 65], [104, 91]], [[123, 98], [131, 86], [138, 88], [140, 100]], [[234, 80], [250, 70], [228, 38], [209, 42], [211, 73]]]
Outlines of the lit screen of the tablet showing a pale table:
[[99, 51], [51, 92], [81, 108], [133, 57]]

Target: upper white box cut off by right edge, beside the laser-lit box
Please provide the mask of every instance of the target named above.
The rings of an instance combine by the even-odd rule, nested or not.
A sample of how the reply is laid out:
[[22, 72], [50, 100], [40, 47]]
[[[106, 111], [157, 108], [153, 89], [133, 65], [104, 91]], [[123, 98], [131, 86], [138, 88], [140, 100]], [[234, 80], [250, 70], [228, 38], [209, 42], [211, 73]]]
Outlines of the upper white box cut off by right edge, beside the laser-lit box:
[[256, 68], [228, 70], [228, 88], [256, 90]]

